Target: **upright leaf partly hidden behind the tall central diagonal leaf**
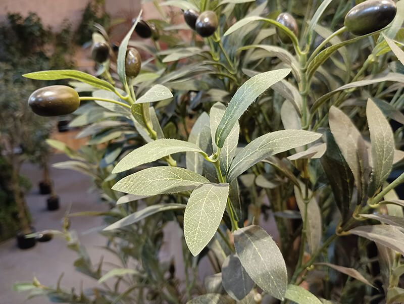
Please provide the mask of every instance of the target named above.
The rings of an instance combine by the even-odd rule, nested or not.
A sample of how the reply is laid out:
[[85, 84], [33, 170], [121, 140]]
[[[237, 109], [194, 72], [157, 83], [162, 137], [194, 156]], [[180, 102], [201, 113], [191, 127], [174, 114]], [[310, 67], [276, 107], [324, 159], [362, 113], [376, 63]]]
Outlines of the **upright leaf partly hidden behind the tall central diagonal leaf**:
[[[211, 134], [212, 134], [212, 142], [215, 142], [215, 133], [217, 127], [220, 123], [220, 120], [223, 118], [224, 113], [226, 112], [226, 107], [221, 103], [216, 103], [211, 108]], [[240, 125], [238, 121], [234, 124], [233, 128], [231, 129], [230, 134], [227, 136], [226, 140], [224, 141], [221, 153], [219, 155], [220, 161], [220, 169], [223, 175], [226, 175], [227, 170], [229, 170], [230, 163], [233, 160], [233, 157], [236, 153], [236, 147], [238, 143], [238, 135], [240, 133]], [[216, 151], [217, 146], [214, 143], [213, 148]]]

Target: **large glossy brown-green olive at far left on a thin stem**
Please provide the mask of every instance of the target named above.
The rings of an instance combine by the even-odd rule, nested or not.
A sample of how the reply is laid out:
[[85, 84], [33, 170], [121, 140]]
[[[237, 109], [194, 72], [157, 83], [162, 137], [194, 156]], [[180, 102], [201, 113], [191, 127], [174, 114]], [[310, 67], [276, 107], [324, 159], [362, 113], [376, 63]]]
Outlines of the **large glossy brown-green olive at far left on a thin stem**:
[[80, 106], [79, 94], [66, 85], [51, 85], [34, 91], [28, 98], [32, 112], [40, 116], [73, 113]]

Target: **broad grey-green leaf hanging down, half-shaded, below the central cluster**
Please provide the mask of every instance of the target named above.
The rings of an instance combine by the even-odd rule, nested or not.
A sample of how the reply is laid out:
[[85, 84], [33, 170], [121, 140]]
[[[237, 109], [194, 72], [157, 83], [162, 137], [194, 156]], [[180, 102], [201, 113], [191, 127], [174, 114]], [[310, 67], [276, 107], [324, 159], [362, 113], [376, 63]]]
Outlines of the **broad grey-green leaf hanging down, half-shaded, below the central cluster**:
[[287, 289], [285, 260], [274, 240], [260, 226], [233, 232], [237, 256], [250, 278], [273, 297], [283, 300]]

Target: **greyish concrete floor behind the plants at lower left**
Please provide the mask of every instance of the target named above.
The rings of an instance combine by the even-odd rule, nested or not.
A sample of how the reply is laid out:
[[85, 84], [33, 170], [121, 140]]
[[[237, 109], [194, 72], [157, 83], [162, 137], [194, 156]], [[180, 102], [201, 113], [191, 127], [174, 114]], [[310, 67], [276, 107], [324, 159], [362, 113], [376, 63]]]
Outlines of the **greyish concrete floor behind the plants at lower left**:
[[[52, 163], [67, 160], [63, 155], [55, 155]], [[30, 178], [32, 189], [26, 196], [27, 204], [33, 218], [33, 226], [37, 231], [44, 229], [61, 229], [61, 219], [71, 206], [72, 212], [105, 210], [95, 192], [89, 192], [91, 180], [71, 170], [51, 169], [51, 174], [60, 196], [61, 208], [57, 211], [46, 210], [47, 195], [38, 193], [37, 184], [41, 178], [38, 167], [27, 164], [23, 174]], [[105, 261], [114, 259], [105, 250], [96, 246], [104, 245], [105, 238], [97, 234], [94, 227], [102, 226], [102, 218], [77, 217], [71, 221], [71, 229], [77, 231], [80, 241], [86, 245], [93, 263], [97, 263], [104, 255]], [[15, 239], [0, 244], [0, 304], [20, 304], [25, 302], [26, 294], [13, 291], [15, 282], [31, 281], [33, 276], [44, 285], [55, 286], [59, 275], [64, 272], [62, 286], [76, 290], [83, 281], [84, 288], [96, 285], [96, 281], [74, 270], [73, 261], [77, 259], [74, 251], [66, 247], [64, 239], [55, 238], [50, 242], [37, 243], [35, 247], [20, 250]], [[38, 297], [26, 301], [32, 304], [49, 303], [47, 298]]]

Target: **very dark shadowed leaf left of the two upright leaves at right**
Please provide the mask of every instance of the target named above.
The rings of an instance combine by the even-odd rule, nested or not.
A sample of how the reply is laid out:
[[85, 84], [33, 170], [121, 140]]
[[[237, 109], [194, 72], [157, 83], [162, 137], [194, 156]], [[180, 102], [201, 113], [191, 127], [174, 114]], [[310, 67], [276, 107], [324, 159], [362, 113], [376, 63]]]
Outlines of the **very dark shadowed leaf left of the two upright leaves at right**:
[[327, 150], [321, 158], [321, 166], [330, 183], [337, 208], [345, 221], [349, 215], [354, 176], [330, 131], [325, 132], [325, 139]]

